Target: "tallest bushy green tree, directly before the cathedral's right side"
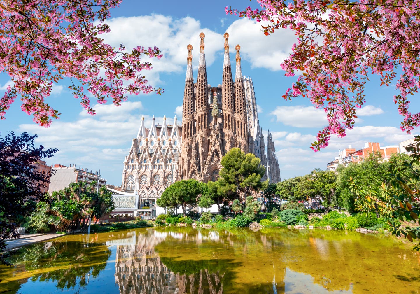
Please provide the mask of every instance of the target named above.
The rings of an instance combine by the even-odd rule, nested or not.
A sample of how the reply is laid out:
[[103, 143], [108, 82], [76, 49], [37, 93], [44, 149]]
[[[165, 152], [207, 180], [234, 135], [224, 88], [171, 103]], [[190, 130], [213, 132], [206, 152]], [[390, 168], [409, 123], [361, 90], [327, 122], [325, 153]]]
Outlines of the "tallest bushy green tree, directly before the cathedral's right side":
[[239, 148], [232, 148], [220, 163], [223, 168], [219, 173], [219, 189], [231, 199], [239, 198], [241, 192], [246, 198], [251, 191], [267, 188], [268, 181], [261, 181], [265, 167], [260, 165], [261, 160], [254, 154], [245, 154]]

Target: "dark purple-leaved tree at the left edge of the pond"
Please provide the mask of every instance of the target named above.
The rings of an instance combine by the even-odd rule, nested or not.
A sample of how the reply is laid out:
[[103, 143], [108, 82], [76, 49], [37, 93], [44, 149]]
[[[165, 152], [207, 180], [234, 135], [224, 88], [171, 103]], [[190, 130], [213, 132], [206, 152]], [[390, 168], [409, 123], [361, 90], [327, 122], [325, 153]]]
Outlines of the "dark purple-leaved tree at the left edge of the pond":
[[35, 138], [37, 135], [16, 136], [13, 132], [0, 138], [0, 264], [10, 265], [3, 254], [5, 239], [17, 238], [18, 223], [35, 210], [37, 201], [45, 199], [42, 190], [51, 172], [38, 171], [36, 163], [58, 150], [36, 148]]

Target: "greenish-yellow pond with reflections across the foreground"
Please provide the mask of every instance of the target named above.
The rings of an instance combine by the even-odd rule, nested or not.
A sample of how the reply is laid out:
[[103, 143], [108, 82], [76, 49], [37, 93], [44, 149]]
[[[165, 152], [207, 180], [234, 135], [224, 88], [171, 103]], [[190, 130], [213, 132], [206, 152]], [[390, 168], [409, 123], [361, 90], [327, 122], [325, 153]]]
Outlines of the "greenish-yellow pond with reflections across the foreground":
[[420, 254], [381, 234], [158, 227], [19, 249], [0, 293], [420, 293]]

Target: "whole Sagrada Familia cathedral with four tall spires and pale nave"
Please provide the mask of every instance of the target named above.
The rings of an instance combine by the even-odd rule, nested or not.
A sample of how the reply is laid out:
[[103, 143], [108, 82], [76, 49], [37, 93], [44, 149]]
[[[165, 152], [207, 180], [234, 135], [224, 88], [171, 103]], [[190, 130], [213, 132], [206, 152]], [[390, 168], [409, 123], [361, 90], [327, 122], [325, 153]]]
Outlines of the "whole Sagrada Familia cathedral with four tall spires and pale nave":
[[[235, 80], [229, 56], [229, 34], [224, 34], [222, 84], [207, 84], [204, 37], [199, 35], [200, 55], [197, 82], [192, 73], [192, 45], [188, 45], [182, 126], [174, 118], [173, 125], [159, 125], [153, 117], [149, 129], [142, 118], [129, 155], [124, 161], [122, 189], [139, 194], [139, 208], [153, 206], [165, 188], [176, 180], [195, 178], [215, 181], [220, 160], [228, 150], [239, 147], [252, 152], [266, 167], [264, 180], [281, 181], [276, 149], [270, 132], [265, 151], [262, 128], [258, 121], [252, 79], [242, 76], [241, 47], [236, 45]], [[147, 203], [145, 202], [147, 199]]]

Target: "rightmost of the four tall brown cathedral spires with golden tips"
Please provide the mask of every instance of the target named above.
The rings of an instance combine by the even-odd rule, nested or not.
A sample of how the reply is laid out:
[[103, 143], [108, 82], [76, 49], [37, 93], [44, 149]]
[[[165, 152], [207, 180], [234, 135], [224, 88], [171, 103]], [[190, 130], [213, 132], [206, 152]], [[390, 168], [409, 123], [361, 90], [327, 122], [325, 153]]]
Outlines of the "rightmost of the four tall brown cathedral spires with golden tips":
[[241, 46], [236, 45], [236, 72], [235, 72], [235, 113], [234, 132], [236, 134], [235, 147], [239, 147], [245, 153], [249, 152], [247, 107], [245, 101], [244, 83], [242, 81]]

